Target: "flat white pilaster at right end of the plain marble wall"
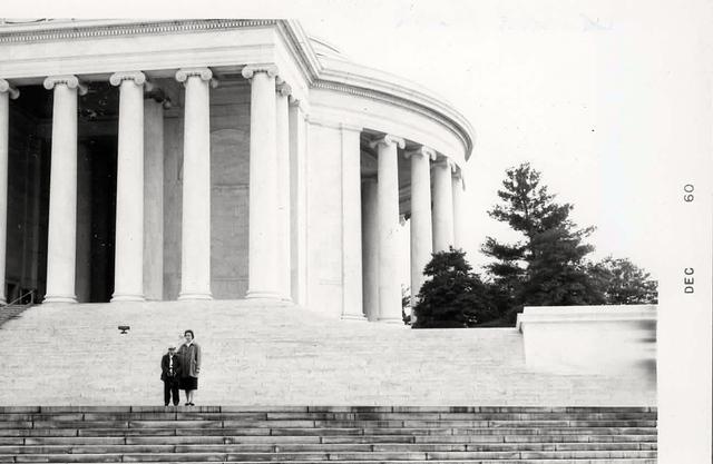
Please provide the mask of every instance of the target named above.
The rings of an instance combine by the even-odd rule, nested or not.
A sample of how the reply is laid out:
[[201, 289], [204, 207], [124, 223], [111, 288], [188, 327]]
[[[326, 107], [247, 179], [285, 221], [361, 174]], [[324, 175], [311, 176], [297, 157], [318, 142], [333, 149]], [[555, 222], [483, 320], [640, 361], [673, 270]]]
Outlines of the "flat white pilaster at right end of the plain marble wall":
[[361, 128], [341, 125], [342, 318], [365, 320], [362, 305]]

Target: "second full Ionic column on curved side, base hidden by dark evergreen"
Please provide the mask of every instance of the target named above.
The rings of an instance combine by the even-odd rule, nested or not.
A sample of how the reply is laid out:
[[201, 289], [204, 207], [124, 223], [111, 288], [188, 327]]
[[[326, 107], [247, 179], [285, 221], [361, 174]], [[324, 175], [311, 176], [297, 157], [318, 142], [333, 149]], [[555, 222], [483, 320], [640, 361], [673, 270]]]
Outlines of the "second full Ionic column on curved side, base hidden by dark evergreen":
[[411, 159], [411, 307], [423, 284], [423, 268], [433, 251], [431, 221], [431, 160], [436, 152], [428, 147], [408, 151]]

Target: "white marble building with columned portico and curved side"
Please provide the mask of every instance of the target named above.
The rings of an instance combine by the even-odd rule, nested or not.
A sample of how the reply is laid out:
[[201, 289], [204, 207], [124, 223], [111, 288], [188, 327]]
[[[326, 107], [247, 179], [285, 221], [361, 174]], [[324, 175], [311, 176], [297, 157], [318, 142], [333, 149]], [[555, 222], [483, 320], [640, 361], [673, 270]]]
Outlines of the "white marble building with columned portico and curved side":
[[0, 56], [2, 302], [400, 323], [400, 217], [412, 289], [459, 245], [469, 122], [295, 21], [6, 22]]

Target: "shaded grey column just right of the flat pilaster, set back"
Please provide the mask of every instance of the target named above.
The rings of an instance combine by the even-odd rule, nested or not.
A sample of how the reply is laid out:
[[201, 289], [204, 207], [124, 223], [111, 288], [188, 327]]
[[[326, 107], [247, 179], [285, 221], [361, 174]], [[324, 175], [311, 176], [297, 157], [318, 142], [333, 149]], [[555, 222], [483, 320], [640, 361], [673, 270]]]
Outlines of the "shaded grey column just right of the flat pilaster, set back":
[[362, 305], [369, 320], [379, 319], [379, 220], [377, 178], [361, 184]]

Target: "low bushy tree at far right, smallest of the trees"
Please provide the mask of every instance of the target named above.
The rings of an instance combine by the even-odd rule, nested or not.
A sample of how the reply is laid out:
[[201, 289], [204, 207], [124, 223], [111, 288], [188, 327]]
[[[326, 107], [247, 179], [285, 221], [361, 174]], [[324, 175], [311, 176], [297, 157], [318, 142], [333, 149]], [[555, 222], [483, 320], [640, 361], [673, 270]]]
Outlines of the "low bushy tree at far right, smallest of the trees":
[[626, 258], [609, 256], [590, 264], [588, 273], [597, 280], [608, 305], [658, 303], [658, 283]]

